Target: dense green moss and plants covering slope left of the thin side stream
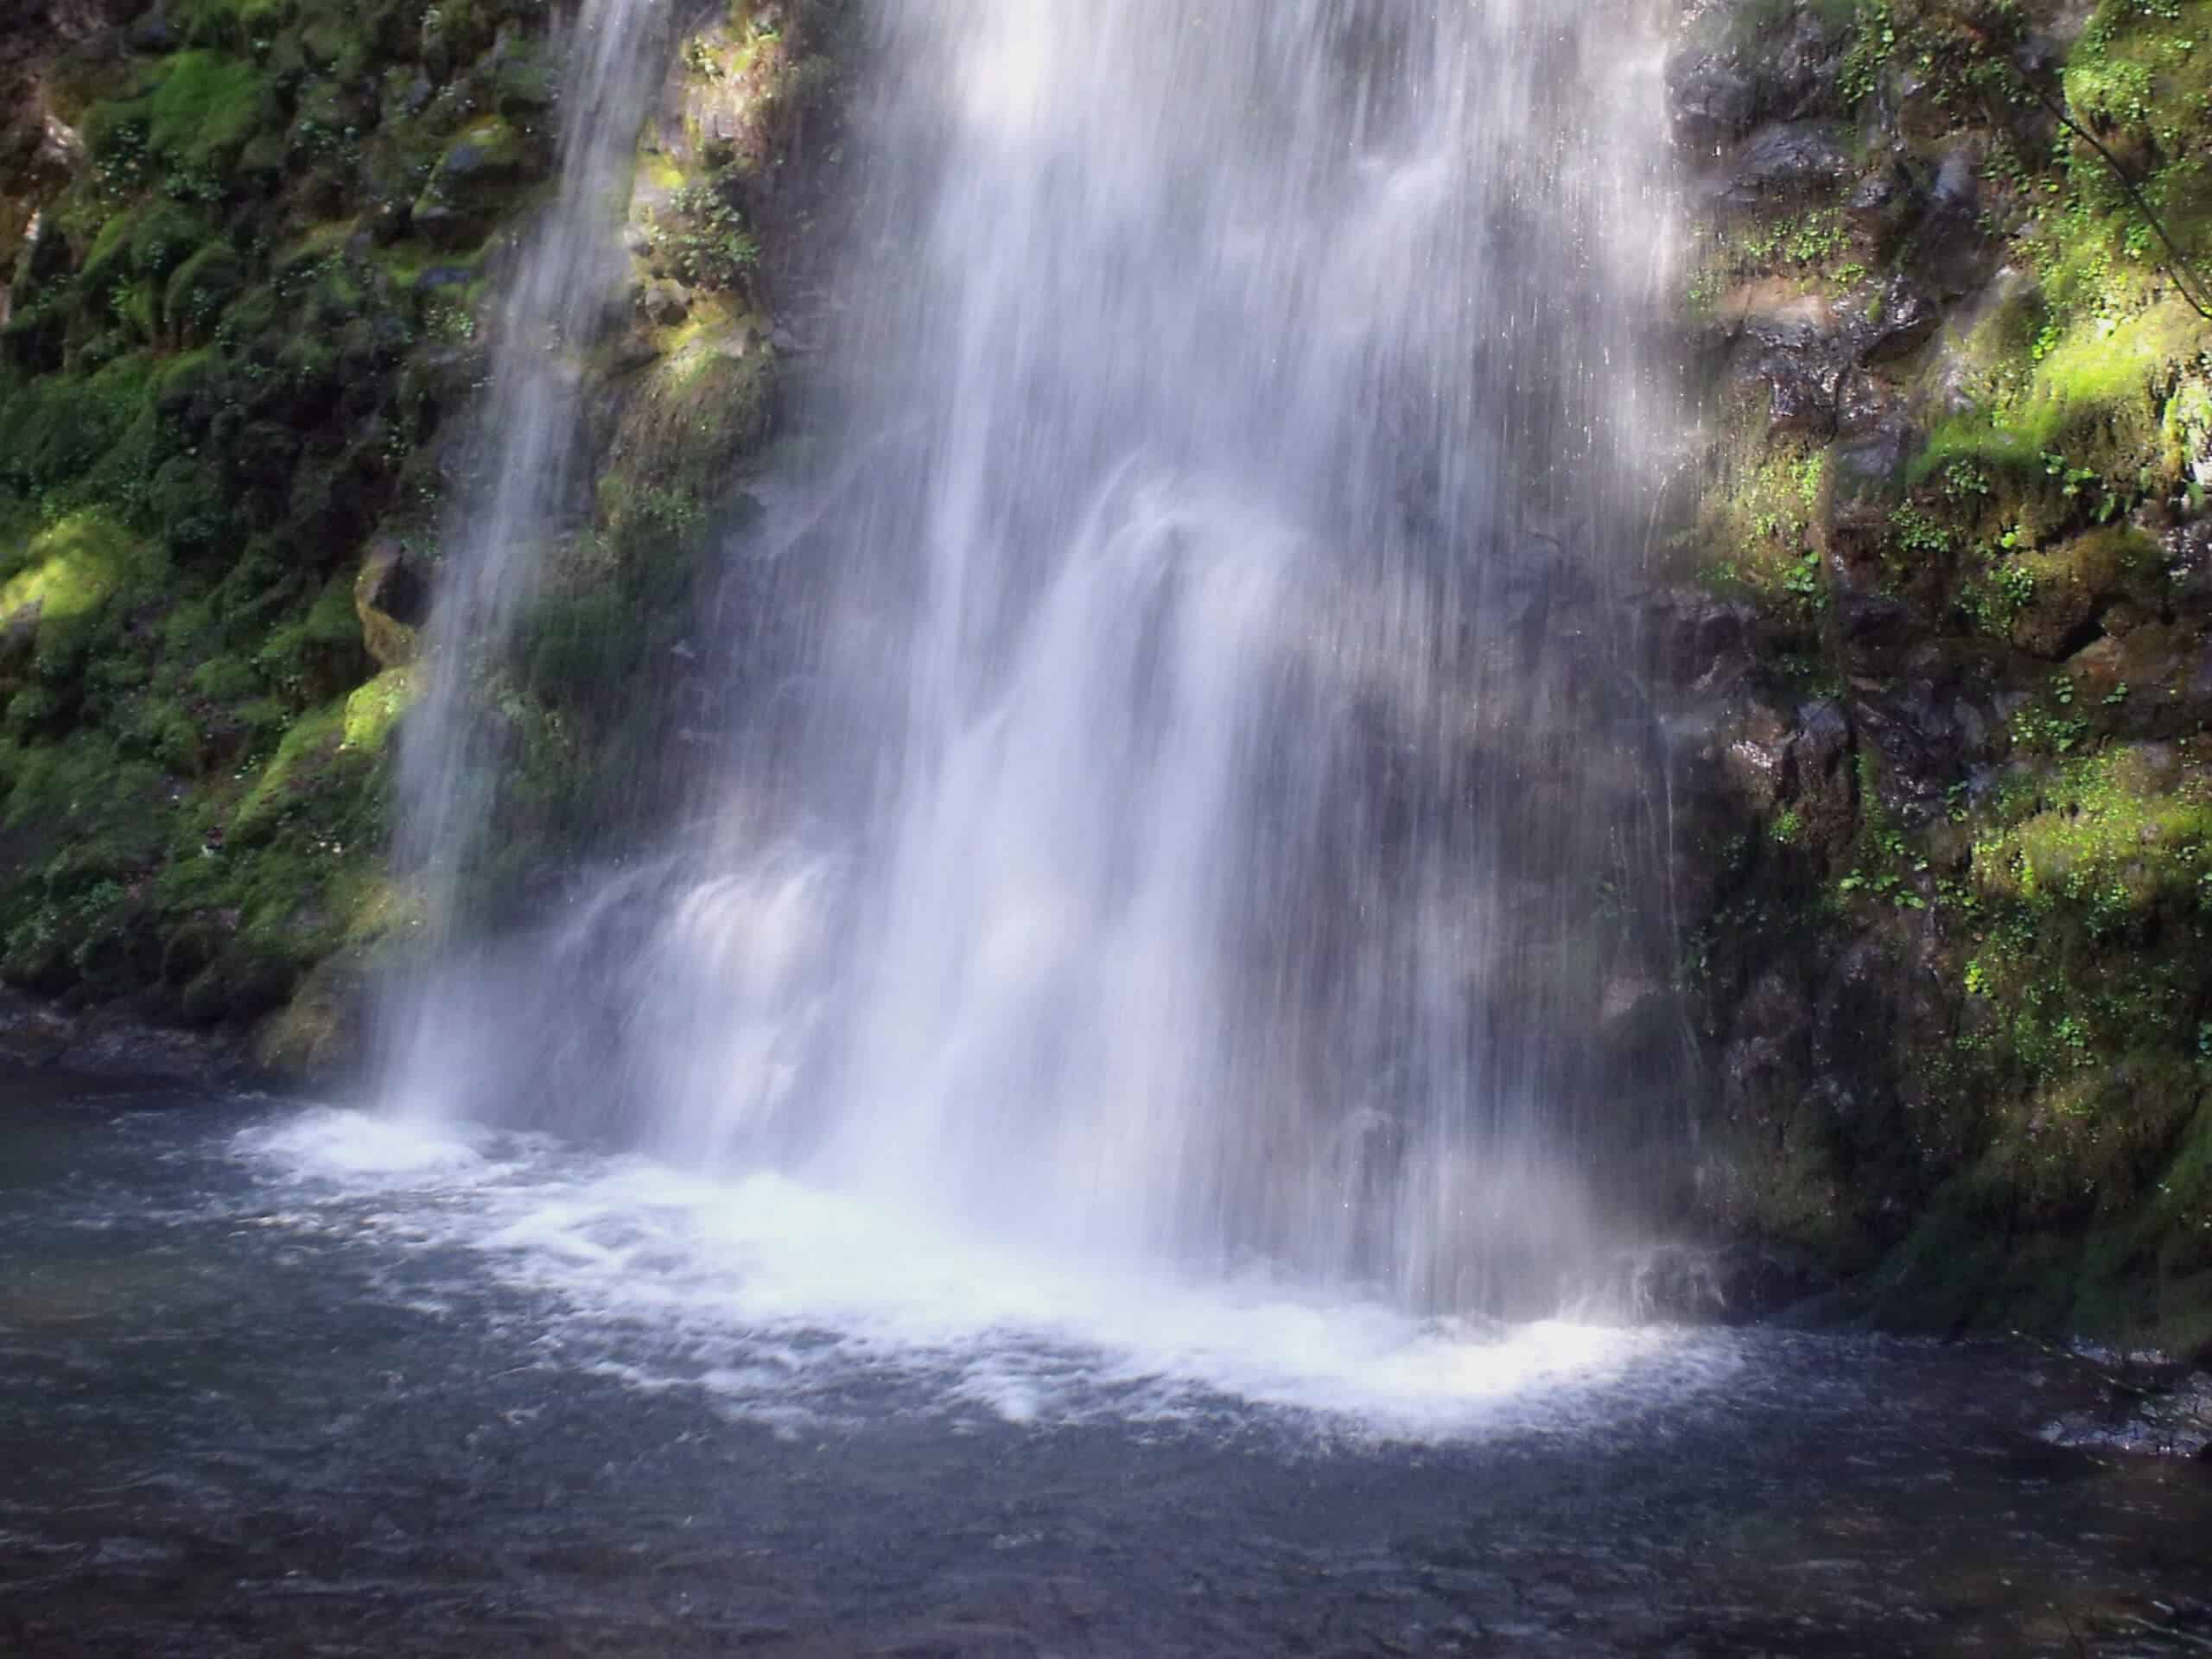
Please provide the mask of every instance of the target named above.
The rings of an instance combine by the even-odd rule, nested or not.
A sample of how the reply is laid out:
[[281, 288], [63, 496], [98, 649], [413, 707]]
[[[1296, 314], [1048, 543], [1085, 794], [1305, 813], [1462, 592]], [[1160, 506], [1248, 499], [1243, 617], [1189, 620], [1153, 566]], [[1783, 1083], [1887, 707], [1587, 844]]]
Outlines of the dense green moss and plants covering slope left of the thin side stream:
[[[405, 670], [361, 538], [434, 511], [425, 442], [478, 250], [407, 234], [453, 137], [531, 119], [538, 0], [197, 0], [64, 77], [86, 168], [0, 330], [0, 975], [274, 1006], [392, 922]], [[434, 86], [427, 102], [407, 91]]]

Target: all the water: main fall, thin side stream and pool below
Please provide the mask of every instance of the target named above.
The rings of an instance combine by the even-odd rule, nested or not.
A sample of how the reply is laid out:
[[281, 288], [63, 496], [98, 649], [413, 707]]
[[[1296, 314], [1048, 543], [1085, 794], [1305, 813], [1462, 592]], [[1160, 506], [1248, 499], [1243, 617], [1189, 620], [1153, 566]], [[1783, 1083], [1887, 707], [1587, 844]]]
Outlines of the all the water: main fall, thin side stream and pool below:
[[2212, 1644], [2095, 1371], [1626, 1318], [1666, 11], [878, 0], [681, 807], [465, 940], [684, 22], [586, 0], [385, 1099], [0, 1082], [0, 1650]]

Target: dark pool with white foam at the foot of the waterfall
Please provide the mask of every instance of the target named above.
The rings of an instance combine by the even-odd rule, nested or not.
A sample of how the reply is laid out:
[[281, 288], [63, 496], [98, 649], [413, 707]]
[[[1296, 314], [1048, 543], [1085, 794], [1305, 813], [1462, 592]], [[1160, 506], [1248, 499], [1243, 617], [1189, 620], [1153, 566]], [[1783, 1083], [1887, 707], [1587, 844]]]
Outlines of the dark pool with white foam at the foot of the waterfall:
[[0, 1655], [2212, 1650], [2212, 1467], [2079, 1444], [2066, 1358], [1413, 1325], [60, 1082], [0, 1252]]

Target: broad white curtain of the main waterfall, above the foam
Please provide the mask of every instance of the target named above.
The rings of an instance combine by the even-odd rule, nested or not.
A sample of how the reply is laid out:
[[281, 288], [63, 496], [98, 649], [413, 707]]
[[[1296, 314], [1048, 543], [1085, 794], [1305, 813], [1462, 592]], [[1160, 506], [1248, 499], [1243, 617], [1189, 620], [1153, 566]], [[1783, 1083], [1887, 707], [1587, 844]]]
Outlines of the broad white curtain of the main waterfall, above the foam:
[[1557, 1305], [1672, 1135], [1608, 604], [1644, 11], [883, 4], [841, 465], [730, 549], [776, 615], [701, 619], [721, 761], [416, 1077], [1026, 1250]]

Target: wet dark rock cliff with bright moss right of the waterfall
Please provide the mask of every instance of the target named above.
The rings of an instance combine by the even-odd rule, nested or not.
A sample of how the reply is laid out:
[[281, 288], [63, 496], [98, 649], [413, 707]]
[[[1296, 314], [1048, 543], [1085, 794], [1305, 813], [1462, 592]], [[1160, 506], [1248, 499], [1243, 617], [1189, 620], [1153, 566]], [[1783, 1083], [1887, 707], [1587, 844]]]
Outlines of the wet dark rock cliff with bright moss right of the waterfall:
[[1701, 1206], [2212, 1343], [2212, 4], [1719, 0], [1655, 677]]

